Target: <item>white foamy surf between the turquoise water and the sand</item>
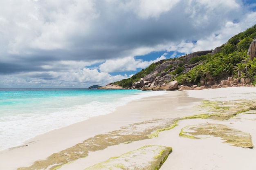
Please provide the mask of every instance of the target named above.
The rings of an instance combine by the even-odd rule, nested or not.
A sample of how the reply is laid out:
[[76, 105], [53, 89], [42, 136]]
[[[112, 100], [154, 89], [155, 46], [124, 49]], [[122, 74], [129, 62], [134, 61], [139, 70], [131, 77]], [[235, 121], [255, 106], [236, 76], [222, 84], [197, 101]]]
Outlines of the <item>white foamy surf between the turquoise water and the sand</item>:
[[[28, 139], [50, 130], [65, 127], [99, 115], [113, 112], [132, 100], [155, 95], [164, 91], [135, 93], [127, 96], [55, 97], [40, 104], [21, 109], [5, 110], [0, 115], [0, 150], [19, 146]], [[105, 98], [104, 98], [105, 97]], [[61, 100], [61, 102], [59, 102]], [[17, 112], [17, 113], [16, 113]]]

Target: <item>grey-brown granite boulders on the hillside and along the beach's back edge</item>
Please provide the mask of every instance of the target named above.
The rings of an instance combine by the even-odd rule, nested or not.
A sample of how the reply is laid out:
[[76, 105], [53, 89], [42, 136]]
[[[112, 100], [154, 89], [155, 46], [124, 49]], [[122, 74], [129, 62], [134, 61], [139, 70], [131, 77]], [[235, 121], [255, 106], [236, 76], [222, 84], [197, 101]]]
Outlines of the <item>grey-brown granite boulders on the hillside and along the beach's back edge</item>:
[[[157, 91], [157, 90], [172, 91], [172, 90], [201, 90], [205, 88], [252, 86], [252, 84], [250, 84], [251, 80], [248, 78], [234, 79], [233, 77], [228, 77], [227, 80], [222, 80], [219, 84], [217, 84], [217, 82], [213, 82], [213, 80], [209, 80], [207, 82], [202, 80], [201, 81], [202, 86], [200, 87], [198, 87], [197, 85], [178, 86], [177, 81], [170, 82], [172, 79], [175, 79], [175, 77], [177, 77], [178, 73], [183, 73], [183, 74], [188, 73], [193, 67], [199, 64], [202, 64], [200, 60], [198, 62], [191, 63], [190, 61], [193, 57], [206, 55], [209, 53], [211, 53], [211, 55], [215, 55], [220, 51], [221, 51], [221, 47], [216, 47], [213, 51], [197, 51], [188, 55], [187, 54], [183, 55], [177, 58], [177, 60], [171, 60], [171, 61], [160, 60], [158, 62], [155, 62], [157, 66], [151, 73], [145, 75], [138, 82], [134, 82], [132, 86], [128, 88], [153, 90], [153, 91]], [[250, 56], [251, 59], [254, 59], [254, 57], [256, 57], [256, 39], [250, 44], [248, 49], [248, 55]], [[177, 73], [177, 69], [179, 69], [179, 67], [181, 66], [182, 66], [182, 69], [180, 69], [181, 72]], [[100, 88], [121, 89], [122, 87], [110, 83]]]

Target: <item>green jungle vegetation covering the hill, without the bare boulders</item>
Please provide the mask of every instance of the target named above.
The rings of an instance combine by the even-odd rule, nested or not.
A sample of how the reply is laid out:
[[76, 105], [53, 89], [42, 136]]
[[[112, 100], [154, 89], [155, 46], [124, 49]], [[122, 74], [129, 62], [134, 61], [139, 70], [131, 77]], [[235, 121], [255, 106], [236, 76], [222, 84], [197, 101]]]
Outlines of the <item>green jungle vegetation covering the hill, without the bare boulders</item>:
[[[219, 83], [227, 77], [250, 78], [253, 85], [256, 84], [256, 58], [250, 59], [247, 51], [251, 42], [256, 38], [256, 25], [230, 38], [220, 46], [218, 53], [208, 53], [192, 57], [185, 61], [184, 57], [170, 58], [155, 62], [128, 79], [123, 79], [113, 84], [124, 88], [132, 87], [134, 82], [152, 73], [155, 68], [166, 61], [177, 61], [168, 65], [164, 72], [170, 75], [165, 83], [177, 80], [178, 84], [200, 86], [200, 80]], [[213, 50], [211, 50], [213, 51]], [[189, 66], [189, 67], [188, 67]], [[192, 68], [191, 68], [192, 67]], [[189, 69], [187, 69], [189, 68]], [[162, 72], [162, 71], [161, 71]], [[160, 76], [160, 72], [156, 76]]]

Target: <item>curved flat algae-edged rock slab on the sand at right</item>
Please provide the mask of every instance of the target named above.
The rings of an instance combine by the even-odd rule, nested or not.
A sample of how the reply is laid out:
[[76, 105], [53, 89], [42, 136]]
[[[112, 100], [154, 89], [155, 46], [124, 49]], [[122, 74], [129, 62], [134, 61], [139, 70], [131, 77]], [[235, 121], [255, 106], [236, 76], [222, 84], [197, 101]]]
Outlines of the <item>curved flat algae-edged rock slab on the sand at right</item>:
[[223, 124], [197, 124], [189, 125], [182, 128], [180, 137], [188, 137], [191, 139], [201, 139], [202, 135], [211, 135], [221, 137], [225, 140], [223, 143], [232, 144], [232, 146], [252, 148], [251, 135], [247, 132], [229, 128]]

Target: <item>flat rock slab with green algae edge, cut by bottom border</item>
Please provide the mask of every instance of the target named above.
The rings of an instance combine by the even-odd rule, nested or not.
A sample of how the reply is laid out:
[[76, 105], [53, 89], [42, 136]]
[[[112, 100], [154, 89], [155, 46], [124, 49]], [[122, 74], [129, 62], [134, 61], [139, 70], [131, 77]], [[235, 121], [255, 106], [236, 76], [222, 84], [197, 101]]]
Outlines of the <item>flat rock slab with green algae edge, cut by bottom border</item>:
[[159, 170], [171, 152], [171, 147], [144, 146], [119, 157], [112, 157], [85, 170]]

